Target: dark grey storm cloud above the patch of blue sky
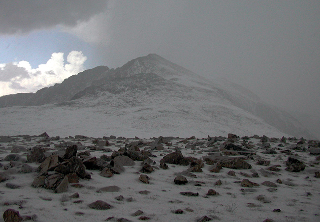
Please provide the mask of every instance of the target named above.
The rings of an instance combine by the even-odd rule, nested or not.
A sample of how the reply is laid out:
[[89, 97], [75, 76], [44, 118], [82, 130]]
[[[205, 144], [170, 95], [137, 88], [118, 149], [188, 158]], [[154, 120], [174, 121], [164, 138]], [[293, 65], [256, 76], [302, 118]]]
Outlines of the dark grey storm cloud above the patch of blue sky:
[[106, 9], [107, 0], [1, 0], [0, 34], [74, 26]]

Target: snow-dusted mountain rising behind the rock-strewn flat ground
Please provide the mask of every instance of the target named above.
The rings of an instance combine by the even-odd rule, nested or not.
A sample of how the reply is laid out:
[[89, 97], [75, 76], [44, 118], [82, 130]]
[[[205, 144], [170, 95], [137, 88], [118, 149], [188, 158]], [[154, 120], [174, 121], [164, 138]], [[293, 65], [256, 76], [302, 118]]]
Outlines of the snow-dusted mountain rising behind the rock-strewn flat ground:
[[203, 78], [156, 54], [117, 69], [98, 66], [36, 93], [2, 96], [0, 106], [0, 135], [313, 138], [244, 87]]

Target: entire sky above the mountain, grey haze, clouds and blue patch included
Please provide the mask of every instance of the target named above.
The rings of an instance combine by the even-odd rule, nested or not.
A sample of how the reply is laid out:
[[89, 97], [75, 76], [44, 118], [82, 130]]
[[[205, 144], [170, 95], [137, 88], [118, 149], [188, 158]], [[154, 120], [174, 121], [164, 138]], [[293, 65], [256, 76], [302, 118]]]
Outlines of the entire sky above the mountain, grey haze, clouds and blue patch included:
[[0, 95], [156, 53], [319, 115], [319, 12], [319, 0], [3, 0]]

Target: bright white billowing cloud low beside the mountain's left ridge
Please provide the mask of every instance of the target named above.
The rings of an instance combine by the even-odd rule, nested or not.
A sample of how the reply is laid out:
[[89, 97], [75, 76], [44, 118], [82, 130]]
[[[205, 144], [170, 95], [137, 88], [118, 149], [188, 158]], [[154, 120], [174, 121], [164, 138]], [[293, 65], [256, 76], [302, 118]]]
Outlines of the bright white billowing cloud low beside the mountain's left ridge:
[[28, 61], [0, 64], [0, 96], [20, 92], [36, 92], [40, 88], [61, 83], [84, 70], [87, 57], [72, 51], [64, 64], [64, 53], [53, 53], [46, 64], [32, 69]]

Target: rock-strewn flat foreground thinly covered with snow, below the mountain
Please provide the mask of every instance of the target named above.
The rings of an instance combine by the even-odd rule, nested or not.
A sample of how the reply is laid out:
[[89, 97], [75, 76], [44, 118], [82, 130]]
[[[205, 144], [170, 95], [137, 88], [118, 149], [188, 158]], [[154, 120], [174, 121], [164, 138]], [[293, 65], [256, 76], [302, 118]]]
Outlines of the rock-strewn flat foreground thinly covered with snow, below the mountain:
[[20, 221], [320, 221], [320, 141], [0, 137], [0, 209]]

